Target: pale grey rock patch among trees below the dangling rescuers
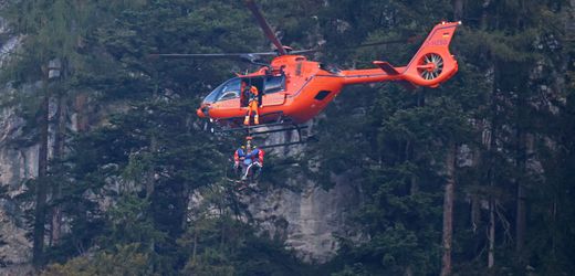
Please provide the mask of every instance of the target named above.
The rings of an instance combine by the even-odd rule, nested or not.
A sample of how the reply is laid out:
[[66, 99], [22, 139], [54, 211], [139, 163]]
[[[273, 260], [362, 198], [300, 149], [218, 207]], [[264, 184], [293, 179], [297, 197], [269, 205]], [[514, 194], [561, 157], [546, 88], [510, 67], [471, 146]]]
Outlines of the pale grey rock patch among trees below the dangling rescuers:
[[325, 263], [338, 248], [335, 235], [358, 237], [349, 226], [351, 213], [360, 204], [360, 191], [345, 177], [324, 190], [302, 180], [301, 191], [270, 190], [249, 199], [249, 211], [263, 231], [285, 241], [307, 263]]

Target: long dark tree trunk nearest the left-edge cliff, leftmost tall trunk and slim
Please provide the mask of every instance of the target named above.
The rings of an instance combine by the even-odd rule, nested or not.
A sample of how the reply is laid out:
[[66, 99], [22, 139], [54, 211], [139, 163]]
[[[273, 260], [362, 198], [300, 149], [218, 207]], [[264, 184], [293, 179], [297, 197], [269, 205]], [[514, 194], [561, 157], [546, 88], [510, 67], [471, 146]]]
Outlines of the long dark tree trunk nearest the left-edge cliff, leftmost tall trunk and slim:
[[40, 148], [38, 153], [38, 181], [35, 189], [35, 210], [34, 210], [34, 231], [33, 231], [33, 247], [32, 247], [32, 263], [35, 267], [41, 267], [43, 263], [44, 252], [44, 224], [45, 224], [45, 208], [46, 208], [46, 185], [48, 185], [48, 124], [50, 116], [50, 93], [48, 88], [48, 67], [42, 67], [42, 84], [44, 91], [44, 98], [40, 106]]

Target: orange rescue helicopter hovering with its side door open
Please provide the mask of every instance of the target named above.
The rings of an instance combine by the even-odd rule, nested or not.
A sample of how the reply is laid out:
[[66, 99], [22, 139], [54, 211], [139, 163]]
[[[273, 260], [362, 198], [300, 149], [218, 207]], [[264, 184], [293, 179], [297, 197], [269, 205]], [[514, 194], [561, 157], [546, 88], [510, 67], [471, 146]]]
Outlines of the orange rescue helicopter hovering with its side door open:
[[[301, 124], [320, 114], [342, 88], [352, 84], [394, 81], [407, 89], [417, 86], [437, 87], [458, 71], [458, 63], [449, 52], [453, 33], [461, 22], [437, 24], [411, 61], [405, 66], [393, 66], [388, 62], [374, 61], [374, 68], [336, 70], [324, 64], [309, 61], [302, 54], [316, 50], [294, 51], [282, 45], [272, 32], [253, 0], [245, 0], [247, 7], [255, 17], [265, 36], [275, 45], [275, 52], [236, 54], [158, 54], [165, 57], [240, 57], [261, 65], [257, 72], [238, 75], [226, 81], [203, 98], [197, 115], [208, 118], [222, 131], [248, 129], [249, 135], [297, 130], [300, 141], [282, 144], [285, 146], [301, 142]], [[260, 62], [261, 56], [274, 55], [270, 64]], [[251, 120], [242, 126], [249, 112], [249, 104], [242, 88], [254, 86], [259, 91], [258, 124]], [[285, 128], [270, 129], [281, 126]], [[250, 132], [257, 128], [264, 131]], [[212, 131], [213, 128], [211, 128]]]

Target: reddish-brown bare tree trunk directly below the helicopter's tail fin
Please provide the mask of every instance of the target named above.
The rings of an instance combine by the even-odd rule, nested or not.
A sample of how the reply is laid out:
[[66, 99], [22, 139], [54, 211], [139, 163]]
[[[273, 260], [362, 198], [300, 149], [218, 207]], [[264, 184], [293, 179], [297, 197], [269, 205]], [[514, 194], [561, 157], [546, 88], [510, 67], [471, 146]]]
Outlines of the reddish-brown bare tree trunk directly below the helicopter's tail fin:
[[447, 152], [447, 182], [443, 195], [443, 257], [441, 258], [441, 276], [451, 275], [451, 241], [453, 235], [453, 189], [456, 185], [456, 149], [451, 145]]

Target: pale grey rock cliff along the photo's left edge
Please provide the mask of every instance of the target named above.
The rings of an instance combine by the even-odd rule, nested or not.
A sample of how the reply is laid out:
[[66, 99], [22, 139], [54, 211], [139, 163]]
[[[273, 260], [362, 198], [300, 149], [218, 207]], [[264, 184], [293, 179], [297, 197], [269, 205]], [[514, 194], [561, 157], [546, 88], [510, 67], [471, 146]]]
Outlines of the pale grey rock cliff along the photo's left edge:
[[[0, 2], [0, 8], [2, 2]], [[0, 70], [21, 39], [7, 34], [8, 29], [0, 18]], [[33, 89], [28, 85], [20, 93]], [[14, 93], [9, 85], [2, 84], [2, 102], [9, 100]], [[13, 197], [25, 189], [23, 180], [38, 174], [38, 147], [17, 147], [13, 141], [21, 137], [24, 120], [15, 115], [10, 106], [0, 108], [0, 187], [7, 190], [0, 198], [0, 275], [25, 275], [31, 270], [31, 243], [23, 229], [22, 206], [14, 203]]]

